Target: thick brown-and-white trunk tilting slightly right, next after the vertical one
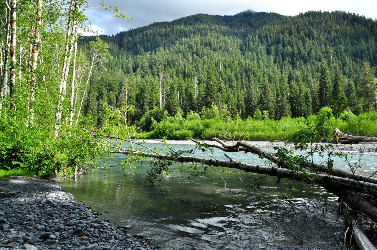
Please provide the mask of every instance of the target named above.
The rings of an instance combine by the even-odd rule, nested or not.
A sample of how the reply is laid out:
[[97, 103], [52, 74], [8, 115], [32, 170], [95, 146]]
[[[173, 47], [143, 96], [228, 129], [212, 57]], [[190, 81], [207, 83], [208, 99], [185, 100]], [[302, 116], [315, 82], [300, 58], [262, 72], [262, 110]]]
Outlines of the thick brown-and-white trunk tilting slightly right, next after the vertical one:
[[37, 85], [37, 61], [38, 61], [38, 52], [39, 52], [39, 37], [40, 37], [40, 30], [39, 26], [41, 25], [41, 17], [42, 17], [42, 1], [38, 0], [38, 10], [35, 22], [35, 32], [34, 32], [34, 41], [32, 45], [32, 53], [31, 53], [31, 81], [30, 81], [30, 90], [31, 90], [31, 103], [30, 103], [30, 119], [29, 123], [34, 123], [34, 101], [35, 101], [35, 87]]

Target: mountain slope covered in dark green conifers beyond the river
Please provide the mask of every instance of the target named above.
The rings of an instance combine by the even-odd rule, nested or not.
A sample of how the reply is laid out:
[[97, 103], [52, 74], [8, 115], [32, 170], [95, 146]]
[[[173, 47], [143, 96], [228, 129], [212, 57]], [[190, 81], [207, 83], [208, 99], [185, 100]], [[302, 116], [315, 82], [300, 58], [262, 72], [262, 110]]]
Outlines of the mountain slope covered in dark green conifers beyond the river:
[[[90, 78], [84, 114], [107, 102], [141, 119], [159, 107], [160, 73], [171, 116], [216, 105], [222, 117], [306, 117], [331, 98], [356, 97], [354, 113], [377, 105], [377, 22], [356, 14], [198, 14], [100, 38], [111, 56]], [[81, 51], [95, 39], [83, 37]]]

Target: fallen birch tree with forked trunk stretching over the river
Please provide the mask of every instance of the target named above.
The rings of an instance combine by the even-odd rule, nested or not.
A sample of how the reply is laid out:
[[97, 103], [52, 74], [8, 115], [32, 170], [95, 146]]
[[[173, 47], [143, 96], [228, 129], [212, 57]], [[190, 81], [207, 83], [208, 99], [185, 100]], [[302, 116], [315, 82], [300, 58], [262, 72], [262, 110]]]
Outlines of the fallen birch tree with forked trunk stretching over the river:
[[[284, 160], [280, 160], [279, 155], [265, 152], [247, 142], [228, 144], [217, 138], [213, 138], [213, 140], [218, 142], [218, 144], [202, 144], [193, 140], [194, 142], [198, 143], [199, 151], [218, 148], [224, 152], [252, 152], [253, 154], [257, 154], [259, 157], [265, 158], [274, 164], [268, 166], [253, 165], [251, 163], [239, 162], [227, 154], [224, 155], [228, 158], [228, 160], [218, 160], [210, 157], [197, 157], [193, 156], [195, 153], [193, 150], [176, 152], [173, 149], [167, 148], [167, 151], [165, 152], [158, 152], [157, 150], [149, 148], [142, 143], [135, 143], [134, 141], [130, 140], [123, 141], [135, 143], [136, 145], [146, 149], [146, 151], [140, 147], [138, 149], [133, 147], [123, 148], [123, 145], [118, 143], [120, 138], [102, 138], [109, 143], [109, 147], [114, 149], [113, 151], [110, 151], [111, 153], [125, 154], [128, 155], [129, 158], [136, 157], [135, 159], [140, 159], [140, 157], [150, 157], [153, 159], [165, 160], [167, 162], [187, 162], [212, 167], [235, 168], [245, 172], [276, 176], [278, 178], [289, 178], [291, 180], [303, 181], [307, 184], [317, 184], [328, 190], [328, 192], [337, 195], [343, 200], [344, 203], [347, 204], [347, 206], [351, 207], [352, 210], [360, 213], [360, 216], [366, 216], [373, 221], [373, 223], [377, 224], [377, 179], [373, 177], [355, 174], [354, 172], [348, 172], [336, 168], [328, 169], [326, 165], [316, 164], [309, 160], [307, 162], [300, 161], [300, 163], [297, 163], [287, 155], [284, 156]], [[115, 141], [113, 139], [115, 139]], [[162, 164], [164, 163], [162, 162]], [[161, 166], [162, 165], [156, 165], [155, 171], [159, 171], [157, 175], [162, 175], [161, 173], [164, 168], [161, 168]], [[152, 169], [153, 168], [154, 167], [152, 166]], [[196, 169], [195, 171], [198, 170]], [[352, 223], [355, 224], [355, 221], [357, 220], [354, 220]], [[359, 236], [362, 234], [359, 228], [357, 234]], [[363, 238], [364, 236], [360, 237]], [[359, 244], [364, 244], [363, 242], [365, 241], [357, 240], [357, 242], [359, 242]], [[359, 248], [363, 249], [364, 246], [360, 245]], [[373, 245], [368, 244], [365, 249], [376, 248], [374, 248]]]

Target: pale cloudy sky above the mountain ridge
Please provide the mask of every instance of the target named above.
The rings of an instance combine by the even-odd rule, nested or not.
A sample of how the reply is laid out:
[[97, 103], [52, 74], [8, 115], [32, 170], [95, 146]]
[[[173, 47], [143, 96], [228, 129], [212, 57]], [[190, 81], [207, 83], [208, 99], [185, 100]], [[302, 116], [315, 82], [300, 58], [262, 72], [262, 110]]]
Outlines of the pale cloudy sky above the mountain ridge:
[[[89, 0], [91, 7], [101, 0]], [[245, 10], [297, 15], [307, 11], [345, 11], [377, 19], [377, 0], [107, 0], [107, 5], [119, 7], [133, 20], [116, 19], [110, 11], [88, 9], [85, 14], [92, 30], [98, 34], [115, 35], [155, 22], [172, 21], [194, 14], [234, 15]], [[83, 35], [94, 35], [82, 32]]]

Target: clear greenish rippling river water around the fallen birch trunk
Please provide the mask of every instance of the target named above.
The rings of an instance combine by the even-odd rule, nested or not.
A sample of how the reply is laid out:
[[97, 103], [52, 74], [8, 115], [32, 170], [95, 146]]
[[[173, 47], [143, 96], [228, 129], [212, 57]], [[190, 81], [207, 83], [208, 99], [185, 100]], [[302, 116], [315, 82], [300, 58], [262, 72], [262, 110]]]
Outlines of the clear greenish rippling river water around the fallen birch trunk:
[[[223, 154], [215, 150], [214, 157], [224, 159]], [[250, 153], [229, 155], [265, 164]], [[121, 163], [124, 157], [114, 155], [109, 165]], [[368, 162], [362, 169], [365, 173], [377, 168], [375, 156], [364, 156], [362, 161]], [[343, 160], [335, 162], [340, 168], [347, 167]], [[337, 198], [320, 187], [284, 180], [276, 185], [276, 178], [265, 177], [261, 188], [254, 190], [250, 184], [260, 175], [236, 169], [226, 169], [229, 173], [211, 170], [187, 179], [190, 172], [185, 164], [172, 166], [171, 175], [152, 186], [144, 183], [149, 162], [136, 166], [137, 175], [125, 175], [112, 167], [77, 181], [63, 180], [61, 185], [92, 210], [103, 212], [115, 226], [131, 225], [129, 233], [143, 233], [161, 249], [346, 249]], [[291, 185], [298, 189], [294, 197], [287, 193]]]

